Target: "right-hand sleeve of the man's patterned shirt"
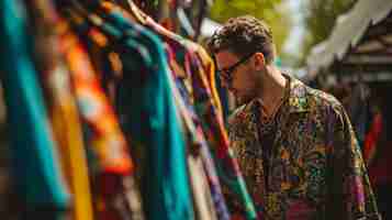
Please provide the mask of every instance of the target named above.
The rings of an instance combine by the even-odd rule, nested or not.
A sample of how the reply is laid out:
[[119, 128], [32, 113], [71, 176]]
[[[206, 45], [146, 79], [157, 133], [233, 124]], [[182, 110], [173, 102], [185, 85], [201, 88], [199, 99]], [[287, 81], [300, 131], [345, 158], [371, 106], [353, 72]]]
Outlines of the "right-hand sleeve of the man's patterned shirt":
[[329, 111], [326, 219], [381, 219], [358, 141], [341, 105]]

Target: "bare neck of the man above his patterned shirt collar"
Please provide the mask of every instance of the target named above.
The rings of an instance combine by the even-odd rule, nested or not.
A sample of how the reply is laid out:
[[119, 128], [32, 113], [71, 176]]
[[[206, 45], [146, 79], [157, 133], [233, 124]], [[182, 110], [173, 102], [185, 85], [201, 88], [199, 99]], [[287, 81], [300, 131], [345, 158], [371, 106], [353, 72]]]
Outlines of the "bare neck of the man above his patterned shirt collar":
[[261, 87], [258, 98], [262, 100], [264, 108], [270, 113], [284, 96], [287, 79], [275, 66], [266, 66], [261, 76]]

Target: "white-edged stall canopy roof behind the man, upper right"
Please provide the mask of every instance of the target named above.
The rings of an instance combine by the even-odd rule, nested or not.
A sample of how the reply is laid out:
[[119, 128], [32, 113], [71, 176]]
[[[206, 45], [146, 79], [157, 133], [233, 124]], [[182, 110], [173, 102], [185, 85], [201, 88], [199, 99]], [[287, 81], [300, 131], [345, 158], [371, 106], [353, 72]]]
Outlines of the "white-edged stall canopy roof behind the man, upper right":
[[313, 47], [306, 63], [306, 79], [333, 67], [354, 72], [359, 66], [372, 74], [390, 72], [392, 79], [392, 0], [359, 0], [337, 19], [331, 36]]

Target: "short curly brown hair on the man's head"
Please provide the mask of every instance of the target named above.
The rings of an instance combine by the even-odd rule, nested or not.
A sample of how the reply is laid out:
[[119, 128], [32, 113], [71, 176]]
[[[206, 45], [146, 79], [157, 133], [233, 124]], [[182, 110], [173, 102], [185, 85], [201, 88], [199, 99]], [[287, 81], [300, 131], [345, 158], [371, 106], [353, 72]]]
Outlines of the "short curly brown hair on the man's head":
[[229, 19], [208, 43], [211, 53], [229, 51], [237, 56], [260, 52], [270, 64], [275, 58], [272, 32], [261, 20], [250, 15]]

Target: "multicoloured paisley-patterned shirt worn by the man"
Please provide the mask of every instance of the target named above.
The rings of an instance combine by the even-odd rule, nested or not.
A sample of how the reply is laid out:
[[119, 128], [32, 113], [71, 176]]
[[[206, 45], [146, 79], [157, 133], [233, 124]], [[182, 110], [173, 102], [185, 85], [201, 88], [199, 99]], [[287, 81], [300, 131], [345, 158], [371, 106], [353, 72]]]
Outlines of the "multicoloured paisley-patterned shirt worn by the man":
[[[268, 172], [253, 100], [228, 124], [259, 219], [380, 219], [360, 148], [343, 106], [332, 96], [289, 79], [276, 116]], [[268, 176], [265, 174], [269, 174]], [[268, 189], [267, 187], [268, 186]]]

